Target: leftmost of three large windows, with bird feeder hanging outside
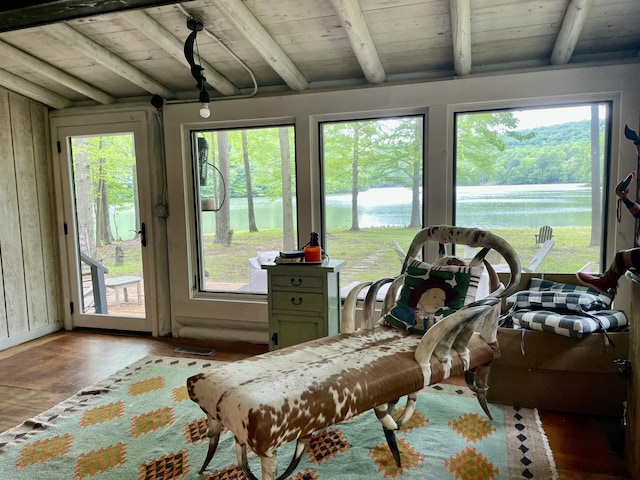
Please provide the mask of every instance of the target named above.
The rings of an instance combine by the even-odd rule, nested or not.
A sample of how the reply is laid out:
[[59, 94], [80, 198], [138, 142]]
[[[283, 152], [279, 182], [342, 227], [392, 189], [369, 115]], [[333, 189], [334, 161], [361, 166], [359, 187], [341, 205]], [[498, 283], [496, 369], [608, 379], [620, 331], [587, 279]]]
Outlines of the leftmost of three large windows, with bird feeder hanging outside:
[[292, 126], [192, 132], [200, 291], [267, 293], [262, 264], [297, 248]]

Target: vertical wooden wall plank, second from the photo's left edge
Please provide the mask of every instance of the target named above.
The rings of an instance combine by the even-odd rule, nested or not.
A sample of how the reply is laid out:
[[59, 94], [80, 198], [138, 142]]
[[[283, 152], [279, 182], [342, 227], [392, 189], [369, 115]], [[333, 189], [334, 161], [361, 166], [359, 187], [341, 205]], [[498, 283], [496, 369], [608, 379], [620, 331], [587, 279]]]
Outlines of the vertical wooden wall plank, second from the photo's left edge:
[[48, 323], [30, 101], [9, 94], [28, 330]]

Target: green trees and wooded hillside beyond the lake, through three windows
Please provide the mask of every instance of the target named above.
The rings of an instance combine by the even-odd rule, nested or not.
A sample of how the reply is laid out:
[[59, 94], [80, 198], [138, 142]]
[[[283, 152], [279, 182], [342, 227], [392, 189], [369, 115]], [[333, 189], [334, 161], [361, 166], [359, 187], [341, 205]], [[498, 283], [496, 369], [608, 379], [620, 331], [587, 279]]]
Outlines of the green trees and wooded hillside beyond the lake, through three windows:
[[[499, 118], [497, 114], [486, 115], [469, 115], [468, 121], [459, 122], [457, 185], [591, 183], [593, 172], [589, 120], [515, 130], [517, 124], [511, 123], [514, 121], [512, 116], [505, 114], [505, 118]], [[422, 150], [415, 118], [396, 120], [392, 129], [381, 128], [382, 122], [379, 120], [361, 125], [360, 132], [348, 131], [344, 124], [333, 127], [333, 136], [326, 140], [325, 145], [326, 150], [330, 148], [332, 152], [323, 166], [325, 192], [353, 191], [354, 159], [357, 159], [359, 170], [359, 191], [388, 186], [414, 187], [416, 173], [421, 176], [421, 169], [418, 172], [416, 164], [420, 163]], [[489, 124], [483, 129], [478, 124], [484, 121]], [[501, 128], [492, 131], [491, 121]], [[601, 120], [597, 149], [601, 166], [604, 163], [604, 127], [604, 121]], [[233, 136], [231, 133], [231, 144], [239, 145], [239, 141], [233, 141]], [[253, 195], [279, 198], [280, 155], [275, 141], [277, 137], [268, 130], [250, 132], [250, 137], [253, 137], [255, 146], [260, 146], [252, 149], [250, 155]], [[293, 161], [293, 142], [291, 148], [290, 158]], [[256, 151], [260, 153], [256, 154]], [[337, 151], [342, 154], [333, 153]], [[240, 154], [238, 158], [241, 158]], [[245, 197], [247, 194], [245, 167], [241, 161], [234, 162], [232, 155], [229, 171], [231, 197]]]

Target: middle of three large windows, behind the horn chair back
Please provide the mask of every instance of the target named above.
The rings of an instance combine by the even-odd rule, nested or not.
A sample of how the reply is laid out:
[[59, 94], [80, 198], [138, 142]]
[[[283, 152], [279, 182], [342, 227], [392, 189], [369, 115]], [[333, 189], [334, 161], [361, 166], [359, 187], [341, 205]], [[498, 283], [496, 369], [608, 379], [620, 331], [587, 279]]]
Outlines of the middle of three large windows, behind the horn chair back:
[[324, 249], [350, 284], [397, 275], [422, 228], [424, 117], [320, 125]]

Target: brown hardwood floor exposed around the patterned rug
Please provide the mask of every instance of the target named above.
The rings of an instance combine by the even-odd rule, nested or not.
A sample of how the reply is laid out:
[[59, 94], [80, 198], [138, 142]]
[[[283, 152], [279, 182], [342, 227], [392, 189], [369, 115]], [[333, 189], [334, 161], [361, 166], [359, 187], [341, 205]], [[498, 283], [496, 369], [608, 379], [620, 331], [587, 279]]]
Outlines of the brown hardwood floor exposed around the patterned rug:
[[[179, 346], [214, 349], [209, 358], [235, 361], [266, 345], [153, 338], [108, 332], [59, 332], [0, 352], [0, 431], [56, 405], [147, 355], [183, 357]], [[627, 480], [619, 419], [540, 411], [560, 480]]]

